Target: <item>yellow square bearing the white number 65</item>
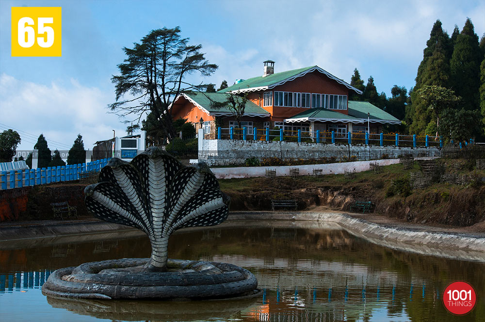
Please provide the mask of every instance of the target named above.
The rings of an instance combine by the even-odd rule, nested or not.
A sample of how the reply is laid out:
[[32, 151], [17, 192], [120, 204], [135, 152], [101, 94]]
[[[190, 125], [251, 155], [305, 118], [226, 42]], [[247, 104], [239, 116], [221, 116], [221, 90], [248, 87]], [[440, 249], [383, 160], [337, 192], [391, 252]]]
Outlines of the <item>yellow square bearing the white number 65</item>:
[[12, 56], [61, 57], [61, 7], [12, 7]]

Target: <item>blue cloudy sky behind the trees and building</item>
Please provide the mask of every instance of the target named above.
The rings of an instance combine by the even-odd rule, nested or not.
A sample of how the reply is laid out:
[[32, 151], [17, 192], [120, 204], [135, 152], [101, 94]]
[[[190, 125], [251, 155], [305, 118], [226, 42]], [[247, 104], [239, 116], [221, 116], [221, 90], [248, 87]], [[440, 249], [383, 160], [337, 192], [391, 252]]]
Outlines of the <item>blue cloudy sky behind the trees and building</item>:
[[[11, 57], [11, 7], [62, 7], [62, 57]], [[0, 131], [16, 129], [17, 150], [31, 150], [43, 133], [54, 150], [68, 150], [78, 133], [86, 149], [126, 135], [109, 113], [113, 75], [148, 32], [180, 26], [219, 68], [198, 79], [231, 85], [275, 72], [318, 65], [350, 83], [354, 68], [372, 75], [377, 91], [415, 84], [422, 51], [436, 19], [451, 34], [469, 17], [485, 32], [485, 1], [47, 1], [0, 0]]]

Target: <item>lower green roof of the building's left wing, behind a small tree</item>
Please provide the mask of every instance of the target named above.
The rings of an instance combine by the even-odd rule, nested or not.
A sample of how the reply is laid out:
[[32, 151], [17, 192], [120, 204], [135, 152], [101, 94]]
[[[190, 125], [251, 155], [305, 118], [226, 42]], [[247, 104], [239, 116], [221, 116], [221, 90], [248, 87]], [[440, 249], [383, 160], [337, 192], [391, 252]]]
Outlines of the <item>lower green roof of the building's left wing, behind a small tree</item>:
[[[227, 95], [225, 93], [206, 93], [206, 92], [192, 92], [186, 93], [187, 97], [193, 100], [197, 105], [203, 107], [209, 113], [232, 113], [229, 106], [225, 107], [214, 107], [212, 106], [211, 102], [218, 102], [222, 103], [227, 100]], [[262, 108], [260, 108], [255, 103], [251, 102], [250, 100], [247, 101], [246, 107], [244, 108], [244, 114], [267, 114], [268, 116], [270, 113]]]

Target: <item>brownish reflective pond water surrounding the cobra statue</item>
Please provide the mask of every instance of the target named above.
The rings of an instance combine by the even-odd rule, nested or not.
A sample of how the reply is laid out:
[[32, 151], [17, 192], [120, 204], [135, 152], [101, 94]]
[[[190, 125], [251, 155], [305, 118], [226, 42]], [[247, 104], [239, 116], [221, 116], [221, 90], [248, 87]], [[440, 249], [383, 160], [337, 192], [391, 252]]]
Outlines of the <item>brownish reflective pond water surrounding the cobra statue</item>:
[[[179, 231], [170, 238], [170, 258], [222, 261], [249, 269], [263, 290], [255, 299], [75, 301], [41, 293], [44, 281], [58, 268], [149, 257], [150, 251], [146, 237], [126, 233], [18, 246], [0, 243], [0, 319], [485, 321], [485, 263], [385, 248], [322, 222], [233, 222]], [[454, 280], [468, 281], [477, 291], [477, 305], [466, 317], [453, 316], [441, 302], [443, 290]]]

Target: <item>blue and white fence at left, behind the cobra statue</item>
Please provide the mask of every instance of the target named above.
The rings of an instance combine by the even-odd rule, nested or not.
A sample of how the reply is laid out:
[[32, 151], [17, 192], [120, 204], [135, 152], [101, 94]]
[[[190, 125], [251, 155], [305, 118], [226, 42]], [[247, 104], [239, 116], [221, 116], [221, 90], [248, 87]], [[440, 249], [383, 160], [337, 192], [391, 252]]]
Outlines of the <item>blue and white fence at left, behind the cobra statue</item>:
[[78, 180], [84, 174], [99, 172], [108, 161], [110, 159], [58, 167], [2, 171], [0, 190]]

